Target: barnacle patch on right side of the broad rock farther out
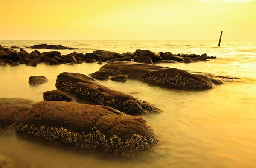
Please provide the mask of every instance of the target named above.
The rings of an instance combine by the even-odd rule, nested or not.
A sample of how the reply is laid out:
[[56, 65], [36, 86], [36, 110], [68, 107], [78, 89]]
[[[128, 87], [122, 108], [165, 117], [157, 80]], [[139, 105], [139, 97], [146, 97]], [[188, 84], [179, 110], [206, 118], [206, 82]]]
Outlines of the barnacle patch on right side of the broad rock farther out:
[[180, 76], [179, 73], [177, 73], [173, 77], [167, 77], [167, 74], [165, 76], [163, 76], [163, 74], [161, 74], [160, 76], [150, 75], [144, 78], [140, 78], [140, 81], [157, 84], [168, 84], [177, 87], [186, 87], [191, 89], [211, 89], [212, 87], [214, 87], [214, 85], [207, 84], [201, 80]]

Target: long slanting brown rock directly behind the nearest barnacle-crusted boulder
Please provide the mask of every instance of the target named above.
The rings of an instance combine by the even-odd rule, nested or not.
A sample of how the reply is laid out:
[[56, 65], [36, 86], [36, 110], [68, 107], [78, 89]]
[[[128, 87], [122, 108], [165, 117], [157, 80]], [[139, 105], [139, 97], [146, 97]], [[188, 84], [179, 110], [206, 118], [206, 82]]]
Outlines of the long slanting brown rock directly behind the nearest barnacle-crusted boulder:
[[[80, 77], [81, 78], [80, 78]], [[64, 82], [65, 81], [65, 82]], [[143, 112], [159, 112], [160, 110], [145, 101], [127, 95], [122, 92], [111, 90], [105, 86], [92, 81], [92, 78], [78, 73], [61, 73], [56, 80], [56, 87], [60, 87], [80, 98], [94, 101], [98, 104], [110, 106], [118, 110], [123, 110], [123, 103], [127, 100], [134, 100], [140, 104]], [[141, 111], [140, 111], [141, 112]], [[140, 113], [134, 112], [134, 113]]]

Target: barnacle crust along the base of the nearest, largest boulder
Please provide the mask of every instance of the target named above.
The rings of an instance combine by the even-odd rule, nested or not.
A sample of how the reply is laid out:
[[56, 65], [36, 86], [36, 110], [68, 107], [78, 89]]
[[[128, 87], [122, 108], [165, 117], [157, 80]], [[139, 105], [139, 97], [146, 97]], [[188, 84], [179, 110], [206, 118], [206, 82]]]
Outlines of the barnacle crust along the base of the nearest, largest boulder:
[[65, 143], [69, 145], [78, 146], [80, 148], [101, 149], [113, 153], [134, 152], [138, 150], [146, 150], [158, 143], [157, 137], [150, 138], [143, 137], [138, 134], [133, 134], [130, 139], [123, 141], [121, 138], [113, 135], [109, 139], [104, 134], [92, 128], [89, 134], [84, 132], [72, 132], [72, 130], [63, 127], [36, 127], [34, 125], [20, 124], [16, 126], [17, 132], [33, 135], [36, 137], [43, 137], [47, 140], [52, 140], [57, 143]]

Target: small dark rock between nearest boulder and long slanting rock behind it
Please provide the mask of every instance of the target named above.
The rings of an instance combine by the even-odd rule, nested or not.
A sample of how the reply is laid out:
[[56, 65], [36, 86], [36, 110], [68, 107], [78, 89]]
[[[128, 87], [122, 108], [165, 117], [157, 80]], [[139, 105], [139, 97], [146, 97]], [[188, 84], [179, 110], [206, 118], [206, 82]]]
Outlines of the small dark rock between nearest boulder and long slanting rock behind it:
[[71, 98], [65, 92], [60, 90], [52, 90], [43, 93], [43, 98], [46, 101], [70, 101]]

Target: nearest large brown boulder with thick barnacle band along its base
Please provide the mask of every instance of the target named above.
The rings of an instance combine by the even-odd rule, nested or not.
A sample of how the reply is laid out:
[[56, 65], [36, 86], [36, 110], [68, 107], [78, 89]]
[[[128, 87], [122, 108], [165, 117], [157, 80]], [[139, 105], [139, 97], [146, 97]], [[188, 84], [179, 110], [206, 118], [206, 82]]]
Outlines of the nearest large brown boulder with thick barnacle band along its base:
[[151, 126], [139, 116], [107, 106], [43, 101], [20, 115], [17, 132], [82, 148], [133, 152], [158, 143]]

